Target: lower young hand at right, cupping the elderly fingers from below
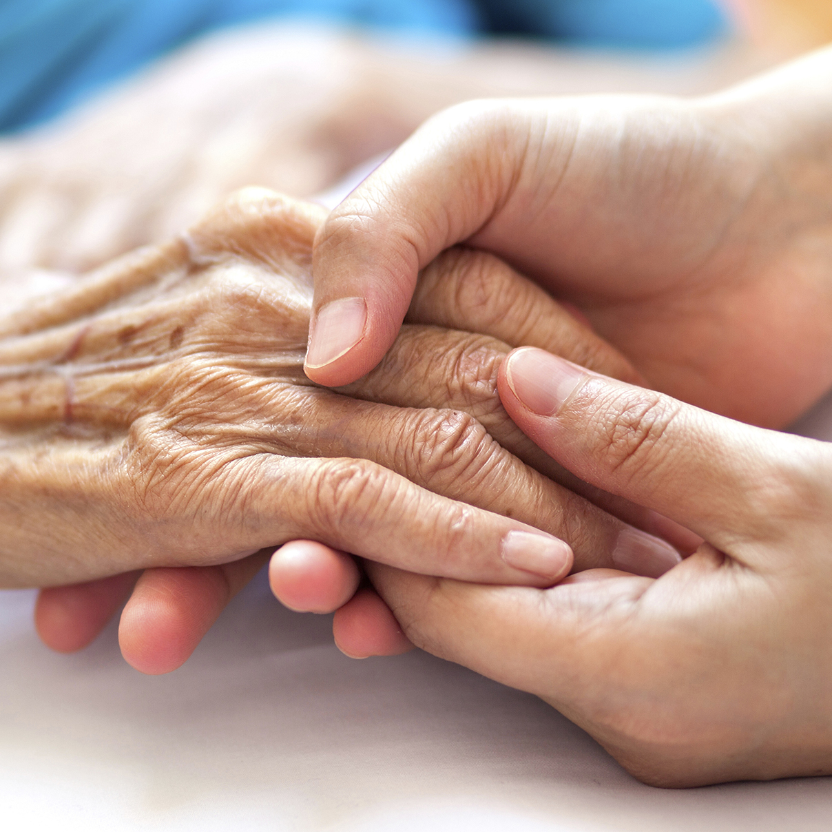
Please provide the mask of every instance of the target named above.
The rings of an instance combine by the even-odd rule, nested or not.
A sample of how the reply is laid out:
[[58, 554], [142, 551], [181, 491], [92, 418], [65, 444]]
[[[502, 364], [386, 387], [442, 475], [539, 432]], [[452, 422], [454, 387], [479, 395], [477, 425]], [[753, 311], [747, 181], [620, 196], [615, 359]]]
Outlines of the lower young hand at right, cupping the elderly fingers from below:
[[541, 696], [640, 780], [832, 773], [832, 446], [519, 349], [514, 421], [705, 543], [658, 579], [486, 587], [367, 564], [418, 646]]

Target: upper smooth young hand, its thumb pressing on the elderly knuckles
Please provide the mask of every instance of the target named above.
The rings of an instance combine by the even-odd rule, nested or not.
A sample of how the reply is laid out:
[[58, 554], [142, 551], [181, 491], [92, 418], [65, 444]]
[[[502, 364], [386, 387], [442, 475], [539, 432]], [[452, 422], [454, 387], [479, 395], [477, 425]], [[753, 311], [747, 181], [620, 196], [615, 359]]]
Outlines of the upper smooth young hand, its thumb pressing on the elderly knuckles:
[[330, 215], [306, 372], [378, 363], [464, 241], [577, 305], [647, 384], [780, 427], [832, 385], [832, 49], [721, 94], [472, 102]]

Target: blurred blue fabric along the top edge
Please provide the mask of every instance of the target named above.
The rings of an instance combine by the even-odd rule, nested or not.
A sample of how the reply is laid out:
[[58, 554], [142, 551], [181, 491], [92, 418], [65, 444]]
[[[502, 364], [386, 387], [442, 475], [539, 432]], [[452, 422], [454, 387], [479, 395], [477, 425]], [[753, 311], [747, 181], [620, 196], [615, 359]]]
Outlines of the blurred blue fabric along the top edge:
[[204, 32], [265, 17], [613, 47], [684, 47], [712, 0], [0, 0], [0, 131], [37, 124]]

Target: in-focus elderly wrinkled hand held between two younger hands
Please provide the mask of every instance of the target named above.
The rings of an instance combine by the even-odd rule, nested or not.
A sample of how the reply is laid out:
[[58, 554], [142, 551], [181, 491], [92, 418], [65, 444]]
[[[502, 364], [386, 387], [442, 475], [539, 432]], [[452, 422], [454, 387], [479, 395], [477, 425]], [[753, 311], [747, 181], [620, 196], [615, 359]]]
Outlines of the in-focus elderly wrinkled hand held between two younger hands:
[[[0, 321], [4, 585], [212, 566], [297, 537], [462, 579], [562, 577], [571, 554], [537, 574], [500, 557], [524, 524], [564, 537], [579, 567], [671, 552], [509, 452], [535, 456], [494, 395], [499, 341], [414, 326], [344, 391], [356, 398], [312, 384], [323, 216], [243, 191], [171, 244]], [[450, 257], [446, 274], [472, 256]], [[425, 319], [440, 296], [426, 293]], [[583, 332], [574, 357], [631, 374], [559, 314]]]

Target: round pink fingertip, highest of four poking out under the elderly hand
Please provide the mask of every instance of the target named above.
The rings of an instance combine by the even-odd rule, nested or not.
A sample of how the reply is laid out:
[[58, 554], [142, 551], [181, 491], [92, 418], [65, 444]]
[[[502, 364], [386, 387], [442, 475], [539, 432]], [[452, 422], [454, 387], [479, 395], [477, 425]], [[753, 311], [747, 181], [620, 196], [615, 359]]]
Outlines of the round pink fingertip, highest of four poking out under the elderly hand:
[[311, 540], [286, 543], [269, 563], [271, 591], [295, 612], [333, 612], [353, 597], [359, 580], [352, 557]]

